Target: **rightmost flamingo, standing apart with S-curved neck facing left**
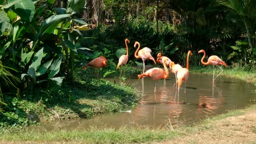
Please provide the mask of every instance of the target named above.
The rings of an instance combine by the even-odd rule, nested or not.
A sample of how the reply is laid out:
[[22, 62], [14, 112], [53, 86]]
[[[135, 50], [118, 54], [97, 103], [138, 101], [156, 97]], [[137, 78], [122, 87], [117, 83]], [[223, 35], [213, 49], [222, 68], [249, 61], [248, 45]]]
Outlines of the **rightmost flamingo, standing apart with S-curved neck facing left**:
[[[210, 56], [207, 60], [207, 62], [203, 62], [203, 59], [205, 59], [205, 50], [200, 50], [198, 51], [198, 53], [203, 52], [203, 57], [201, 59], [201, 63], [203, 65], [209, 65], [212, 64], [213, 65], [213, 77], [212, 77], [212, 81], [214, 82], [214, 80], [223, 72], [223, 69], [221, 67], [219, 67], [219, 65], [224, 65], [225, 67], [228, 67], [228, 65], [226, 65], [225, 62], [222, 61], [222, 59], [220, 59], [218, 56]], [[214, 78], [214, 66], [217, 65], [222, 71], [220, 71], [220, 73]]]

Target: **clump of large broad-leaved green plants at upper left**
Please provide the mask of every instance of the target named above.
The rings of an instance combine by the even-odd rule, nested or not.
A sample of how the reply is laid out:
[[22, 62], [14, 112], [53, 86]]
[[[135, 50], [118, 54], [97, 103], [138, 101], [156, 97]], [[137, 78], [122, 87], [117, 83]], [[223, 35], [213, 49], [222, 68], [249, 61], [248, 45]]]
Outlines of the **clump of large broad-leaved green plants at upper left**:
[[[21, 71], [21, 79], [29, 77], [33, 85], [54, 81], [61, 85], [63, 75], [72, 73], [74, 53], [89, 50], [77, 42], [80, 31], [88, 31], [84, 20], [74, 14], [84, 9], [84, 0], [69, 0], [68, 7], [57, 8], [40, 26], [35, 20], [42, 8], [35, 8], [31, 0], [0, 2], [0, 59], [9, 58]], [[8, 57], [7, 57], [8, 56]], [[15, 67], [17, 68], [17, 67]], [[67, 74], [69, 75], [69, 74]], [[29, 81], [29, 80], [28, 80]]]

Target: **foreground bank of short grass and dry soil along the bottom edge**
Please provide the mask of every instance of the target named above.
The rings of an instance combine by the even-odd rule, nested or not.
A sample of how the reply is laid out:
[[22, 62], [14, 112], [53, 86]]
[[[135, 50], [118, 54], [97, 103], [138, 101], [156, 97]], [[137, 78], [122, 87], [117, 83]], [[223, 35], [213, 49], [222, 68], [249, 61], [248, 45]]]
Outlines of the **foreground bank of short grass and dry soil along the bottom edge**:
[[[249, 138], [252, 136], [248, 141], [251, 141], [256, 140], [254, 137], [256, 136], [256, 125], [253, 125], [253, 123], [246, 126], [245, 124], [247, 122], [246, 120], [254, 122], [254, 119], [250, 117], [251, 119], [245, 120], [245, 118], [243, 118], [241, 119], [242, 121], [239, 121], [241, 124], [237, 125], [236, 122], [234, 125], [230, 118], [233, 118], [232, 121], [234, 121], [236, 117], [243, 117], [245, 114], [255, 111], [256, 105], [248, 107], [245, 110], [234, 110], [223, 115], [205, 119], [193, 127], [181, 127], [176, 129], [166, 127], [164, 129], [152, 130], [148, 128], [123, 127], [120, 129], [108, 128], [104, 130], [91, 128], [91, 130], [87, 131], [53, 130], [39, 132], [22, 130], [16, 131], [15, 133], [1, 134], [0, 138], [3, 143], [205, 143], [207, 139], [211, 137], [211, 141], [209, 140], [208, 142], [216, 143], [219, 141], [216, 141], [214, 137], [223, 136], [225, 138], [223, 138], [222, 141], [224, 139], [231, 139], [231, 141], [234, 142], [235, 138], [231, 138], [232, 130], [234, 129], [236, 132], [239, 132], [248, 128], [251, 134]], [[222, 129], [222, 127], [226, 129]], [[207, 137], [207, 139], [200, 140], [196, 138], [203, 135]], [[238, 142], [243, 140], [241, 137], [237, 137], [237, 139]], [[243, 140], [245, 143], [248, 143], [248, 141]]]

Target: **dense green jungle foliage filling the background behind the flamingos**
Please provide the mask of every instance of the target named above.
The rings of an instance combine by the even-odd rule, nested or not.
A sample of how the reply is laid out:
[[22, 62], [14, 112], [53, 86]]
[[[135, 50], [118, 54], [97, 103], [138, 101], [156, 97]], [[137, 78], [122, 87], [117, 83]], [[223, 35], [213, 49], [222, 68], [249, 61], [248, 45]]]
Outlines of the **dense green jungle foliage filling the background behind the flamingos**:
[[[154, 57], [162, 52], [182, 65], [188, 50], [205, 49], [228, 65], [255, 70], [255, 3], [0, 0], [0, 111], [9, 115], [9, 99], [38, 99], [38, 88], [58, 91], [74, 82], [75, 67], [100, 55], [108, 59], [104, 76], [114, 74], [125, 38], [130, 65], [141, 62], [133, 57], [139, 41]], [[193, 59], [191, 65], [200, 64], [200, 55]]]

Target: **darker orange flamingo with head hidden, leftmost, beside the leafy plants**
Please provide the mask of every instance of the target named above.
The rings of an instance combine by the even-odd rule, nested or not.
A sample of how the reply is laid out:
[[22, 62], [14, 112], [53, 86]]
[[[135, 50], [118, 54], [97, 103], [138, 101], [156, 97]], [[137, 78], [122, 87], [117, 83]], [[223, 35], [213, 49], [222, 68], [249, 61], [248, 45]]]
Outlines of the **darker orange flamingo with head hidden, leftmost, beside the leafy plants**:
[[[88, 64], [85, 64], [83, 66], [83, 70], [87, 69], [88, 66], [92, 68], [97, 68], [99, 70], [100, 68], [107, 66], [107, 59], [103, 56], [92, 59], [92, 61], [90, 61]], [[97, 73], [97, 78], [98, 78], [98, 73]]]

